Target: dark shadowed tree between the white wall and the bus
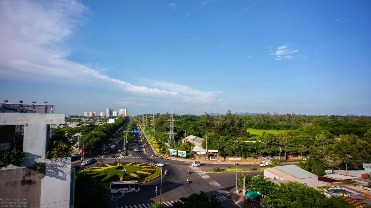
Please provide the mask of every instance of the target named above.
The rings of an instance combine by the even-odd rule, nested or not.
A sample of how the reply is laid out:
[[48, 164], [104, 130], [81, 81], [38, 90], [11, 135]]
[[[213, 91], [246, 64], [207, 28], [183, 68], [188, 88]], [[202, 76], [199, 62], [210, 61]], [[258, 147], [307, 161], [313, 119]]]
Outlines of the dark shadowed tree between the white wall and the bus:
[[107, 189], [86, 174], [76, 174], [75, 207], [108, 208]]

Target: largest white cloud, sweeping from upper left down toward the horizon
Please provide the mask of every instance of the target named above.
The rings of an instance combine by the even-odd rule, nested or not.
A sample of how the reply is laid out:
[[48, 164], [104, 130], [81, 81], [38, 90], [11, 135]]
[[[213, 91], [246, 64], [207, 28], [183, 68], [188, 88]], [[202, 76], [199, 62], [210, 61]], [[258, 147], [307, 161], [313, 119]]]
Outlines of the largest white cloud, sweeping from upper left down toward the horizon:
[[164, 100], [207, 103], [216, 97], [174, 83], [175, 88], [134, 85], [102, 74], [104, 70], [67, 60], [65, 40], [82, 24], [81, 15], [87, 9], [79, 1], [0, 1], [1, 78], [61, 85], [70, 81]]

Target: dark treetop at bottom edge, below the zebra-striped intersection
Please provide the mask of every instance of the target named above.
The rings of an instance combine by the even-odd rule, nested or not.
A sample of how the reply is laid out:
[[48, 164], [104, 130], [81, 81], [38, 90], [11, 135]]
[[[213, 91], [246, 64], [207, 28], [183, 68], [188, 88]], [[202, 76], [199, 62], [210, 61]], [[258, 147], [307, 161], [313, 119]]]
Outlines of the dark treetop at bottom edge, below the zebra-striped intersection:
[[184, 202], [182, 204], [180, 201], [173, 204], [174, 208], [222, 208], [220, 202], [215, 195], [209, 197], [205, 192], [200, 191], [199, 194], [191, 194], [188, 198], [180, 198]]

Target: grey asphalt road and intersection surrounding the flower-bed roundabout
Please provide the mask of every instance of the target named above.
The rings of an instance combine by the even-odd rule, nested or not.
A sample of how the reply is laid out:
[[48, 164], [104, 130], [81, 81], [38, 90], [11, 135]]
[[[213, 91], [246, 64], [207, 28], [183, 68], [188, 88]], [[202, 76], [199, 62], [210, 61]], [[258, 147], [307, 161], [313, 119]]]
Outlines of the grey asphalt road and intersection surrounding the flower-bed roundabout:
[[[137, 130], [136, 125], [134, 125], [134, 130]], [[140, 129], [139, 129], [140, 130]], [[115, 140], [121, 137], [122, 132], [117, 135]], [[146, 140], [145, 140], [146, 141]], [[148, 142], [148, 141], [146, 141]], [[134, 152], [135, 145], [140, 144], [138, 152]], [[122, 148], [123, 143], [119, 142]], [[134, 134], [134, 141], [130, 142], [128, 148], [129, 157], [120, 157], [120, 153], [117, 149], [114, 152], [107, 151], [104, 153], [104, 157], [108, 157], [111, 154], [115, 154], [113, 159], [104, 159], [101, 163], [111, 163], [113, 160], [119, 162], [145, 162], [154, 164], [158, 162], [168, 163], [162, 167], [163, 170], [167, 170], [167, 175], [162, 175], [162, 177], [157, 178], [154, 181], [141, 184], [141, 191], [139, 193], [126, 193], [125, 197], [118, 199], [117, 205], [119, 208], [147, 208], [148, 205], [155, 202], [156, 197], [156, 186], [157, 186], [157, 202], [162, 202], [165, 207], [171, 207], [175, 201], [179, 201], [181, 197], [188, 197], [193, 193], [198, 193], [200, 191], [205, 192], [207, 195], [216, 195], [217, 199], [221, 202], [224, 207], [236, 207], [233, 201], [226, 198], [227, 192], [236, 191], [236, 173], [235, 172], [219, 172], [219, 173], [204, 173], [205, 164], [201, 162], [201, 166], [190, 167], [189, 162], [179, 161], [179, 160], [164, 160], [161, 158], [150, 157], [155, 156], [154, 150], [151, 149], [150, 145], [147, 145], [148, 153], [144, 152], [143, 145], [141, 143], [139, 133]], [[100, 155], [99, 157], [101, 157]], [[99, 158], [98, 157], [98, 158]], [[97, 158], [97, 157], [95, 157]], [[121, 159], [120, 159], [121, 158]], [[80, 161], [75, 161], [72, 165], [79, 165]], [[91, 167], [95, 164], [83, 166]], [[213, 169], [214, 166], [218, 164], [207, 164], [209, 170]], [[251, 165], [237, 165], [237, 168], [249, 169]], [[259, 164], [254, 165], [256, 168], [260, 168]], [[221, 164], [221, 169], [235, 168], [232, 164]], [[187, 170], [191, 171], [191, 174], [187, 173]], [[253, 176], [263, 174], [263, 171], [250, 172]], [[237, 173], [238, 175], [238, 173]], [[190, 180], [190, 184], [186, 183], [187, 178]], [[162, 186], [161, 186], [162, 180]], [[160, 195], [161, 193], [161, 195]], [[108, 194], [109, 197], [117, 197], [118, 194]], [[110, 201], [109, 206], [116, 207], [115, 201]]]

